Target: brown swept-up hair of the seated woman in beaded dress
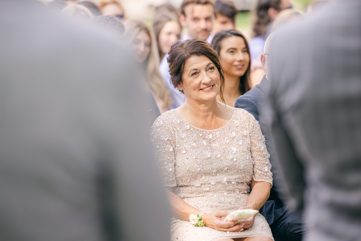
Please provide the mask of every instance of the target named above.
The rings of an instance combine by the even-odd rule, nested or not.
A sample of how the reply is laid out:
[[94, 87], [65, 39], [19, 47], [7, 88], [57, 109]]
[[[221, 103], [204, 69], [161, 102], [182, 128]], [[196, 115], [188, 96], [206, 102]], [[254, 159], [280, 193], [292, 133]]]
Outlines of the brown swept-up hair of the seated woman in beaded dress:
[[195, 38], [187, 39], [185, 41], [179, 40], [170, 47], [168, 54], [169, 56], [167, 57], [167, 62], [169, 64], [170, 78], [175, 88], [177, 88], [179, 83], [182, 83], [184, 65], [191, 56], [204, 55], [210, 59], [210, 61], [212, 61], [218, 69], [221, 81], [219, 96], [221, 96], [221, 100], [225, 103], [223, 98], [223, 89], [225, 84], [223, 69], [221, 63], [219, 62], [217, 52], [213, 50], [209, 43]]

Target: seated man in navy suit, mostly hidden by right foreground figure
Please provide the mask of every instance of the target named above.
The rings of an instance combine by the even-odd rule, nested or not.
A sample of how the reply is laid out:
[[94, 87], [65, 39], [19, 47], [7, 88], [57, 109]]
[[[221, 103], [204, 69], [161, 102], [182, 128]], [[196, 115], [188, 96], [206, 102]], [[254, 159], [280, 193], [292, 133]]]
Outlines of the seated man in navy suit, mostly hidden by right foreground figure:
[[271, 188], [270, 196], [265, 205], [260, 209], [260, 213], [265, 216], [275, 241], [297, 241], [301, 240], [305, 233], [303, 223], [301, 221], [301, 213], [299, 211], [289, 211], [287, 206], [283, 205], [281, 198], [282, 189], [280, 186], [280, 173], [277, 163], [272, 160], [273, 146], [270, 142], [269, 121], [271, 117], [265, 113], [265, 108], [268, 106], [268, 99], [266, 93], [270, 85], [270, 72], [268, 53], [270, 49], [270, 42], [274, 34], [270, 34], [266, 39], [264, 53], [261, 55], [262, 65], [266, 70], [266, 75], [263, 77], [261, 83], [252, 88], [244, 95], [239, 96], [236, 100], [235, 107], [243, 108], [251, 113], [256, 120], [259, 121], [262, 133], [265, 135], [267, 149], [270, 152], [270, 162], [273, 171], [273, 186]]

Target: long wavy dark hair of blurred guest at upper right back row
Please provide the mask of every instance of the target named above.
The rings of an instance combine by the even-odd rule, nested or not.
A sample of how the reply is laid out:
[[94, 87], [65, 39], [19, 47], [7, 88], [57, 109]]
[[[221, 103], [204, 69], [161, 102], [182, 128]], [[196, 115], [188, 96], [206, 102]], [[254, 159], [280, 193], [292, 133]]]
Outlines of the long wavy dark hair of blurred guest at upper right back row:
[[280, 10], [281, 0], [259, 0], [255, 9], [255, 22], [253, 23], [253, 36], [263, 36], [268, 24], [271, 22], [268, 9]]

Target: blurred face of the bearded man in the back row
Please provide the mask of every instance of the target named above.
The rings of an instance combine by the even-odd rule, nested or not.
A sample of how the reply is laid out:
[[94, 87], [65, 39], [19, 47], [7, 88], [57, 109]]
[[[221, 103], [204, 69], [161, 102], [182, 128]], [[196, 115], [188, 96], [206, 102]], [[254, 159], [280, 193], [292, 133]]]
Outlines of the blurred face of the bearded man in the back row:
[[185, 16], [179, 17], [183, 27], [188, 29], [191, 38], [206, 40], [212, 31], [214, 10], [206, 4], [189, 4], [184, 8]]

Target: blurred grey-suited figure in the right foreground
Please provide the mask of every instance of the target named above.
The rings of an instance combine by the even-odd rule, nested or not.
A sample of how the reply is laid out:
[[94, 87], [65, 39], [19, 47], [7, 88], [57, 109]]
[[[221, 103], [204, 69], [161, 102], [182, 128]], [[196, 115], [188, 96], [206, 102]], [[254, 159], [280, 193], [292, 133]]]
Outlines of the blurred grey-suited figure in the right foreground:
[[361, 240], [361, 2], [280, 30], [269, 56], [272, 134], [304, 240]]

